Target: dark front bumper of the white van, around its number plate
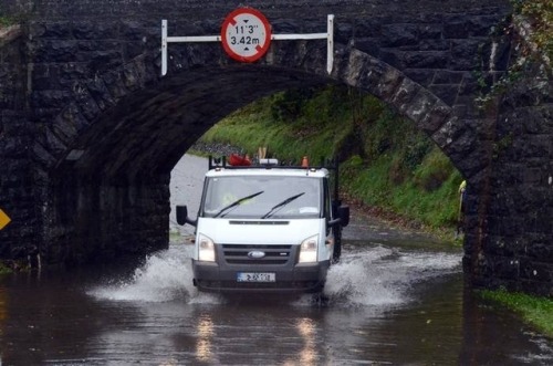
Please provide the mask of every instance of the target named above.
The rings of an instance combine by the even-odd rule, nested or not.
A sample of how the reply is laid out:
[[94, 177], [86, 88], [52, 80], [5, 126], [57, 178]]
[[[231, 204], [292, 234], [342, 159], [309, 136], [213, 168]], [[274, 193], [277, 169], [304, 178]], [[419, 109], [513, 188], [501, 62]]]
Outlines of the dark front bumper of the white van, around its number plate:
[[[330, 261], [302, 263], [293, 268], [269, 265], [227, 266], [192, 260], [194, 285], [217, 293], [316, 293], [324, 287]], [[240, 272], [274, 273], [274, 282], [239, 282]]]

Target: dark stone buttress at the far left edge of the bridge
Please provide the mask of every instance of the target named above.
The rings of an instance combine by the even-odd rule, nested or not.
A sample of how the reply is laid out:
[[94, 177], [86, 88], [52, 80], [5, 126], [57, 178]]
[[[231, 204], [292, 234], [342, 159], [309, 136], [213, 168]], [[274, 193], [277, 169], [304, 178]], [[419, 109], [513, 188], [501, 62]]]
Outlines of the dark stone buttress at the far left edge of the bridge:
[[[11, 222], [0, 231], [0, 257], [36, 251], [41, 228], [32, 159], [34, 125], [28, 121], [27, 62], [19, 27], [0, 31], [0, 209]], [[10, 230], [17, 236], [7, 236]]]

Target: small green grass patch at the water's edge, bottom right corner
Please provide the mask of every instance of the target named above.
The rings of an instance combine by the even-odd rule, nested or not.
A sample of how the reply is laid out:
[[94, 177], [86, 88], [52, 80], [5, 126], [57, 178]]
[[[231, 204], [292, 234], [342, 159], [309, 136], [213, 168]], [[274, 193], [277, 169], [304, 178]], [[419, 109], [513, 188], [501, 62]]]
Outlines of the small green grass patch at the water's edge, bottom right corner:
[[483, 290], [478, 293], [484, 300], [495, 302], [514, 311], [524, 321], [535, 326], [538, 331], [553, 338], [553, 299], [507, 291]]

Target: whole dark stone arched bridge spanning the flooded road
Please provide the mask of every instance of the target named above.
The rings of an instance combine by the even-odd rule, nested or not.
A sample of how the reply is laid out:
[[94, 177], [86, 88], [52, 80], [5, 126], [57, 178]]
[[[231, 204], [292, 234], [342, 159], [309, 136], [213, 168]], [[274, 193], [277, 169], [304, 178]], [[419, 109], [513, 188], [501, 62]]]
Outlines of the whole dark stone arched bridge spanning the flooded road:
[[[476, 285], [553, 294], [551, 83], [532, 70], [484, 108], [476, 98], [510, 65], [509, 0], [2, 0], [20, 25], [0, 39], [0, 257], [104, 261], [168, 245], [170, 170], [213, 124], [262, 96], [346, 84], [413, 121], [468, 180], [463, 265]], [[252, 7], [273, 33], [254, 63], [219, 43]], [[545, 84], [544, 84], [545, 83]], [[545, 91], [544, 91], [545, 88]]]

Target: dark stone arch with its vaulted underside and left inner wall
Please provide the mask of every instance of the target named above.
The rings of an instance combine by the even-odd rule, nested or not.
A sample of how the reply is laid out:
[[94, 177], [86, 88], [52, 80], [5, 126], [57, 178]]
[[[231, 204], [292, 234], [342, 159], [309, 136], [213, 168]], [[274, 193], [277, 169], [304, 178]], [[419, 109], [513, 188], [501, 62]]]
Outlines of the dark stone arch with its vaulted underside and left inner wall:
[[48, 157], [41, 167], [49, 176], [41, 192], [46, 258], [84, 262], [165, 248], [168, 182], [181, 155], [232, 111], [285, 88], [344, 83], [411, 119], [446, 154], [455, 145], [451, 106], [364, 52], [338, 45], [336, 54], [327, 75], [324, 44], [274, 46], [258, 64], [188, 45], [171, 54], [166, 77], [152, 52], [74, 81], [66, 106], [34, 148]]

